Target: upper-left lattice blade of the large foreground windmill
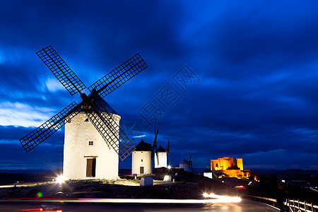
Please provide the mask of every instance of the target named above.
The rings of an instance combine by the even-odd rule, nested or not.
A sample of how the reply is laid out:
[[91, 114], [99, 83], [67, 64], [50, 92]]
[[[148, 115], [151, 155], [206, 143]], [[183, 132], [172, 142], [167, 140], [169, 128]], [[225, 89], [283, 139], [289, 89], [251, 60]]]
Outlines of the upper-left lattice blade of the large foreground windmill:
[[69, 91], [71, 95], [81, 93], [85, 89], [84, 83], [76, 76], [76, 74], [69, 68], [59, 54], [52, 46], [45, 47], [37, 52], [37, 56], [47, 65], [54, 76], [61, 82], [61, 84]]

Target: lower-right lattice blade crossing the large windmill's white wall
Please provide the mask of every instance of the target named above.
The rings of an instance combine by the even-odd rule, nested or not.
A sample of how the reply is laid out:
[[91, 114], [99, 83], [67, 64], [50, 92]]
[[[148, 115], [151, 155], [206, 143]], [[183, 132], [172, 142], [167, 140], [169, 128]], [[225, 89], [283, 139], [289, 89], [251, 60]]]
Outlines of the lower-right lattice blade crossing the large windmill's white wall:
[[134, 144], [124, 134], [124, 131], [120, 129], [117, 122], [112, 118], [112, 114], [103, 107], [98, 97], [94, 99], [92, 105], [92, 110], [86, 112], [90, 122], [99, 131], [102, 138], [118, 153], [119, 158], [124, 160], [130, 155], [135, 147]]

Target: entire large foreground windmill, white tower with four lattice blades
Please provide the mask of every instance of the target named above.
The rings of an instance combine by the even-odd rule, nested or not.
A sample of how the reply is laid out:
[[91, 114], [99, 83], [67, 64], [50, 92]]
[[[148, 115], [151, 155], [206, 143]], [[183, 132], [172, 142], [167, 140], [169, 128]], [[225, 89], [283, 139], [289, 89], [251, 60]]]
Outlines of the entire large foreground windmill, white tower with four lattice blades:
[[[72, 179], [117, 178], [118, 155], [121, 160], [124, 160], [130, 155], [134, 144], [120, 129], [119, 115], [102, 98], [146, 69], [146, 63], [139, 54], [134, 55], [88, 87], [90, 94], [86, 95], [81, 92], [86, 86], [53, 47], [41, 49], [37, 52], [37, 56], [66, 90], [71, 95], [79, 93], [82, 101], [78, 104], [72, 102], [47, 122], [24, 136], [20, 139], [21, 145], [28, 153], [67, 123], [64, 143], [66, 177]], [[88, 123], [85, 124], [85, 122]], [[110, 169], [109, 173], [107, 169]]]

